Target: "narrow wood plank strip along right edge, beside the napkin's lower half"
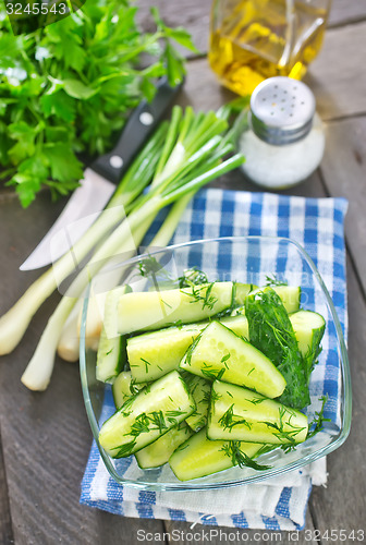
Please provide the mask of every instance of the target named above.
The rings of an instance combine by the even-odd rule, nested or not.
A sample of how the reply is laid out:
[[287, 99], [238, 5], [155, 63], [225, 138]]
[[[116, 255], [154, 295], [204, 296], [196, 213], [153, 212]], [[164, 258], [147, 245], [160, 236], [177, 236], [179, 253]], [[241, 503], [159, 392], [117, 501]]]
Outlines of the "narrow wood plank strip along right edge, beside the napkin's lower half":
[[[328, 457], [329, 480], [327, 488], [316, 487], [312, 497], [312, 512], [316, 526], [321, 531], [337, 529], [350, 532], [361, 529], [366, 533], [366, 302], [357, 283], [352, 264], [347, 263], [349, 280], [349, 356], [352, 370], [353, 420], [350, 437], [337, 452]], [[363, 540], [349, 537], [344, 543]], [[328, 542], [326, 542], [328, 543]], [[338, 543], [338, 542], [337, 542]], [[341, 540], [339, 540], [341, 543]]]

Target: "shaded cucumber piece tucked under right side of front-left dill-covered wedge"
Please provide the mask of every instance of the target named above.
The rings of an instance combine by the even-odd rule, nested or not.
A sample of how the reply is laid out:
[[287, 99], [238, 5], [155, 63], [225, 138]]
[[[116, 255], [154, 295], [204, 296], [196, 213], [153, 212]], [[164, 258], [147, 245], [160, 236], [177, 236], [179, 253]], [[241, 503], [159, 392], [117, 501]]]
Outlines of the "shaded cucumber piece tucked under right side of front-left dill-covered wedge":
[[138, 465], [143, 469], [158, 468], [168, 462], [174, 450], [187, 440], [193, 432], [182, 422], [175, 427], [172, 427], [164, 435], [159, 437], [145, 448], [135, 453]]

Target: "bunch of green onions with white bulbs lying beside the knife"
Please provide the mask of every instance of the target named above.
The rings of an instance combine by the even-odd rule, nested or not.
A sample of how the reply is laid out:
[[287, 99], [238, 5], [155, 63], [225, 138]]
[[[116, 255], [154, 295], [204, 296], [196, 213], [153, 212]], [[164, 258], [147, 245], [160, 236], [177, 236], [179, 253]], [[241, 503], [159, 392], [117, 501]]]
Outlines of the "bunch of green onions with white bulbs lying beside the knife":
[[[127, 178], [124, 179], [111, 199], [109, 213], [113, 213], [117, 208], [113, 204], [122, 203], [127, 210], [127, 217], [123, 219], [120, 215], [119, 220], [113, 222], [114, 230], [102, 244], [98, 245], [93, 257], [73, 280], [66, 295], [62, 298], [50, 317], [35, 354], [22, 376], [23, 384], [28, 388], [41, 390], [47, 387], [51, 377], [54, 353], [62, 329], [72, 308], [77, 303], [77, 298], [82, 296], [90, 278], [102, 269], [109, 259], [122, 252], [132, 251], [131, 233], [135, 239], [135, 243], [139, 244], [159, 210], [175, 203], [167, 221], [163, 223], [162, 230], [159, 231], [157, 240], [154, 241], [155, 244], [158, 242], [161, 245], [166, 245], [173, 230], [176, 228], [182, 211], [194, 193], [218, 175], [229, 172], [243, 162], [244, 158], [241, 155], [234, 155], [225, 159], [228, 153], [232, 152], [230, 143], [222, 145], [227, 130], [227, 121], [219, 119], [213, 112], [195, 114], [192, 108], [187, 108], [183, 116], [181, 108], [175, 107], [173, 109], [172, 121], [169, 128], [163, 125], [157, 132], [155, 144], [149, 144], [149, 153], [145, 153], [144, 155], [143, 152], [139, 161], [135, 161], [129, 171]], [[161, 135], [164, 138], [163, 145]], [[158, 149], [158, 153], [154, 156], [154, 166], [149, 166], [148, 174], [149, 179], [152, 178], [152, 182], [148, 192], [141, 194], [146, 182], [139, 182], [141, 186], [138, 191], [134, 190], [132, 182], [138, 178], [137, 173], [138, 175], [144, 173], [142, 157], [144, 157], [144, 160], [147, 160], [148, 157], [151, 158], [154, 149]], [[147, 175], [145, 179], [147, 179]], [[84, 235], [83, 242], [75, 244], [73, 254], [76, 249], [78, 251], [78, 261], [81, 259], [81, 255], [84, 257], [90, 250], [90, 246], [86, 244], [86, 251], [85, 240], [88, 243], [93, 237], [95, 245], [96, 242], [100, 242], [103, 239], [107, 232], [101, 221], [103, 216], [105, 214], [101, 214], [100, 220], [98, 219], [91, 226], [86, 235]], [[108, 231], [113, 226], [109, 223]], [[100, 233], [102, 234], [100, 235]], [[60, 262], [61, 265], [59, 265]], [[72, 272], [75, 262], [73, 261], [72, 267], [70, 262], [71, 256], [69, 255], [61, 258], [54, 265], [57, 270], [53, 268], [53, 274], [57, 272], [56, 276], [59, 281], [60, 278], [64, 279]], [[48, 274], [50, 275], [50, 272]], [[39, 291], [41, 290], [37, 282], [44, 284], [44, 290], [45, 286], [48, 288], [46, 295], [42, 292], [39, 296]], [[54, 280], [51, 283], [48, 277], [46, 277], [46, 280], [41, 277], [37, 282], [36, 288], [34, 286], [30, 287], [20, 302], [0, 320], [0, 351], [2, 353], [5, 353], [5, 349], [9, 351], [9, 349], [11, 350], [16, 346], [36, 310], [48, 294], [54, 290]], [[24, 306], [24, 298], [27, 300], [27, 304], [30, 303], [30, 308], [27, 311], [27, 318], [22, 324], [23, 332], [15, 332], [13, 335], [14, 338], [8, 341], [7, 346], [7, 342], [4, 342], [4, 331], [8, 328], [9, 334], [11, 329], [9, 323], [12, 323], [13, 329], [16, 329], [14, 322], [16, 322], [19, 327], [20, 307], [22, 310]]]

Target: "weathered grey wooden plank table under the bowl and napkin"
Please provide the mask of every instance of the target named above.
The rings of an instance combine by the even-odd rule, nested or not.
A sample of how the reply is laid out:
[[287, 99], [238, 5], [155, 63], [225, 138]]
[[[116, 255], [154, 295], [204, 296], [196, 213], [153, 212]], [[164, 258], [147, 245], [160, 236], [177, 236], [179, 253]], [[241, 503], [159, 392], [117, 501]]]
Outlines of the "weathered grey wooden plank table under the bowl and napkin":
[[[198, 47], [207, 49], [210, 0], [155, 0], [171, 25], [184, 25]], [[353, 376], [353, 425], [346, 444], [328, 458], [327, 488], [313, 491], [306, 528], [347, 531], [365, 529], [366, 469], [366, 2], [333, 0], [324, 49], [310, 66], [306, 82], [316, 94], [326, 121], [327, 150], [321, 168], [293, 193], [306, 196], [345, 196], [350, 337]], [[192, 58], [181, 104], [216, 108], [230, 97], [220, 88], [204, 57]], [[232, 173], [216, 185], [256, 191]], [[20, 272], [19, 266], [52, 225], [64, 201], [51, 204], [42, 193], [28, 209], [21, 209], [9, 190], [0, 193], [0, 311], [7, 311], [38, 272]], [[28, 391], [20, 377], [34, 352], [58, 294], [33, 319], [21, 346], [0, 365], [0, 544], [134, 545], [137, 529], [160, 532], [156, 542], [168, 543], [162, 532], [188, 524], [125, 519], [78, 504], [80, 484], [91, 433], [83, 405], [78, 366], [58, 361], [46, 392]], [[224, 529], [229, 532], [229, 529]], [[249, 537], [268, 542], [264, 534]], [[328, 543], [302, 533], [297, 543]], [[186, 534], [185, 534], [186, 536]], [[188, 543], [184, 534], [174, 541]], [[213, 540], [215, 543], [215, 540]], [[217, 542], [218, 543], [218, 542]], [[240, 542], [232, 542], [240, 543]], [[277, 543], [279, 543], [277, 541]], [[290, 543], [286, 533], [281, 543]], [[357, 543], [349, 542], [343, 543]]]

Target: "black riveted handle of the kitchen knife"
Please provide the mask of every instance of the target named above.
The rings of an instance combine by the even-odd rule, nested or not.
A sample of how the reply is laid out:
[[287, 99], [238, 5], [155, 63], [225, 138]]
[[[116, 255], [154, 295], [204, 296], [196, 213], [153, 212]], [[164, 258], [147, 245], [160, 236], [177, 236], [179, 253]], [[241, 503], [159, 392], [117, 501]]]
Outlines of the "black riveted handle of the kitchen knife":
[[139, 102], [131, 113], [113, 149], [98, 157], [90, 168], [110, 182], [118, 184], [136, 153], [158, 125], [181, 86], [182, 84], [171, 87], [166, 77], [159, 80], [152, 101]]

